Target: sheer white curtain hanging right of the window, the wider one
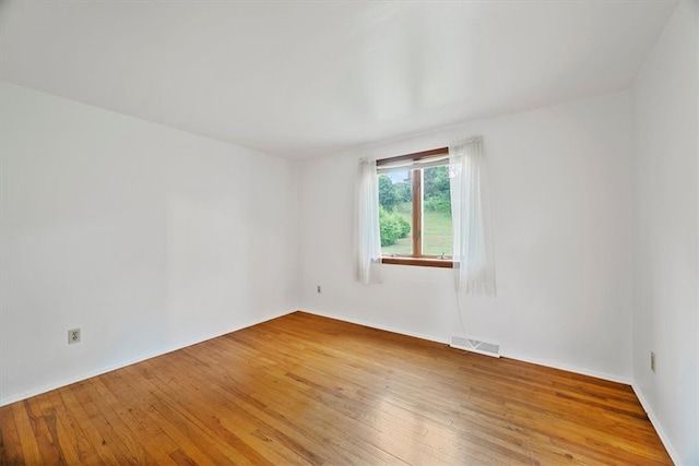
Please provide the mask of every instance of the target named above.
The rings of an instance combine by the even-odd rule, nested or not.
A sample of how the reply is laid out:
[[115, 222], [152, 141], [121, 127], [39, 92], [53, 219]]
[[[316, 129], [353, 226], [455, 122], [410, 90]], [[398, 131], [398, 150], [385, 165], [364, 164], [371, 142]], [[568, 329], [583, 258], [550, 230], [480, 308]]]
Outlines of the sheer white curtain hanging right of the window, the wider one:
[[449, 177], [457, 292], [495, 296], [493, 225], [482, 138], [449, 147]]

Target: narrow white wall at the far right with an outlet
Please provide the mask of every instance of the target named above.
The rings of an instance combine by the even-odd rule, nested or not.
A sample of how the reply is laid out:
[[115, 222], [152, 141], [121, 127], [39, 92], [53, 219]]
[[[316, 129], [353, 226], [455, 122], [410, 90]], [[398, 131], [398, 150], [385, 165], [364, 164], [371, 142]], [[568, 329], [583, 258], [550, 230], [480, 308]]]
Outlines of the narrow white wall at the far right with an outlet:
[[698, 4], [677, 7], [632, 88], [635, 387], [686, 465], [699, 465]]

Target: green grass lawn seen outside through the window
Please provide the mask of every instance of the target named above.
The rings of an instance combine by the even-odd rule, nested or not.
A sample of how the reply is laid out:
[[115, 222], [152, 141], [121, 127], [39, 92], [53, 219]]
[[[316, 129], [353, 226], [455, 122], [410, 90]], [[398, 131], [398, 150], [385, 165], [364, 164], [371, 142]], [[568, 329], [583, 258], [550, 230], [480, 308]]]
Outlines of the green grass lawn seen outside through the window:
[[[407, 222], [412, 223], [410, 213], [403, 213], [403, 215]], [[425, 212], [423, 228], [423, 254], [439, 255], [443, 252], [446, 255], [451, 255], [451, 214], [449, 212]], [[381, 252], [384, 254], [411, 254], [413, 251], [412, 242], [412, 232], [410, 232], [408, 238], [399, 239], [391, 246], [382, 247]]]

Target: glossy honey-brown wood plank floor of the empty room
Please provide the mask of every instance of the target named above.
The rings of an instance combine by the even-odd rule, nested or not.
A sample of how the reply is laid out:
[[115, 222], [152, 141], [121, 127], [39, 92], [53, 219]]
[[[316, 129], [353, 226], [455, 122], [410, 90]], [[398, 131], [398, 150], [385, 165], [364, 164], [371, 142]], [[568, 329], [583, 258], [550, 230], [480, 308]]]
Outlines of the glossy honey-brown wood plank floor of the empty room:
[[0, 464], [672, 462], [627, 385], [295, 312], [1, 407]]

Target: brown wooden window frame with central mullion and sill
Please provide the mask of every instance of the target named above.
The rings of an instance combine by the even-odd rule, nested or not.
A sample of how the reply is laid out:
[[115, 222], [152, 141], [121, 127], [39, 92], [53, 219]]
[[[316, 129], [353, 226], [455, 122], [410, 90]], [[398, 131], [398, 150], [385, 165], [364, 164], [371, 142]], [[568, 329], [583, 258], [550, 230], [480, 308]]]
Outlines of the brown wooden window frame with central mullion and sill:
[[[439, 147], [430, 151], [415, 152], [412, 154], [399, 155], [395, 157], [381, 158], [376, 160], [377, 168], [386, 165], [395, 164], [399, 162], [408, 160], [425, 160], [428, 158], [440, 157], [449, 154], [449, 147]], [[443, 267], [453, 268], [452, 258], [441, 259], [438, 255], [424, 255], [423, 254], [423, 170], [424, 168], [414, 168], [412, 171], [413, 179], [413, 253], [412, 254], [394, 254], [394, 255], [381, 255], [382, 264], [396, 264], [396, 265], [418, 265], [424, 267]]]

